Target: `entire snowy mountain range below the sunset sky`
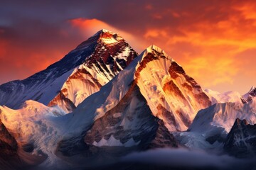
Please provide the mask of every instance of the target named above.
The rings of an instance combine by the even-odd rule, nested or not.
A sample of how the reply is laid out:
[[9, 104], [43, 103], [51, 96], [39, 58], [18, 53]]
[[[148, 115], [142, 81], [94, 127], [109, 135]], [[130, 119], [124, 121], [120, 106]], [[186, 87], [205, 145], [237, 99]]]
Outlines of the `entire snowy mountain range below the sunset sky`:
[[244, 95], [204, 90], [161, 48], [138, 54], [103, 29], [45, 70], [0, 86], [0, 167], [143, 169], [150, 162], [124, 158], [164, 148], [240, 164], [152, 169], [252, 168], [255, 96], [253, 86]]

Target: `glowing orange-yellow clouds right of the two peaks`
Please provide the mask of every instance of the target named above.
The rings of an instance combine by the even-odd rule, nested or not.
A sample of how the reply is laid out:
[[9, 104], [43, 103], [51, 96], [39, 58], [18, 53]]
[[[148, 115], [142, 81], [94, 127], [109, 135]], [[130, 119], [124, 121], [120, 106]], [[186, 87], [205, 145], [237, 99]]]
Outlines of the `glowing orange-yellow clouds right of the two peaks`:
[[[254, 1], [233, 1], [219, 2], [216, 6], [202, 2], [193, 10], [184, 10], [186, 6], [162, 8], [163, 22], [167, 21], [167, 16], [172, 16], [171, 13], [178, 14], [178, 21], [173, 17], [165, 26], [155, 24], [146, 28], [145, 42], [154, 42], [163, 48], [203, 87], [245, 92], [247, 89], [238, 79], [244, 79], [243, 72], [253, 72], [248, 68], [254, 64], [241, 64], [235, 56], [255, 48], [254, 6]], [[242, 60], [247, 59], [244, 55]], [[247, 79], [244, 83], [255, 84], [256, 81]]]

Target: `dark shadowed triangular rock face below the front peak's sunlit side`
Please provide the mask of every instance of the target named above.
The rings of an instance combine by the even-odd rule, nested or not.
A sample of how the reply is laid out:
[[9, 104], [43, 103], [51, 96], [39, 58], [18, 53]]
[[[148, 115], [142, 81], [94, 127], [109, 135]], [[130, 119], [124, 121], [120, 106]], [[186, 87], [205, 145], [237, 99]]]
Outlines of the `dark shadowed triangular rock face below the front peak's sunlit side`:
[[152, 115], [136, 84], [117, 106], [95, 120], [85, 142], [97, 147], [178, 147], [162, 120]]

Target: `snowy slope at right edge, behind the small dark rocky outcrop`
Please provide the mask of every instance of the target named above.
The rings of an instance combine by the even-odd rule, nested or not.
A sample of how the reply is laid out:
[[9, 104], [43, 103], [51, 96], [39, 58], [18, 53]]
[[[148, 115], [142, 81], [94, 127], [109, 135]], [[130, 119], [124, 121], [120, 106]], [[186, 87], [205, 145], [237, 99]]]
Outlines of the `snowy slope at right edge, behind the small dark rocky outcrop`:
[[217, 103], [203, 109], [198, 112], [188, 131], [201, 132], [206, 138], [220, 140], [230, 132], [237, 118], [245, 119], [252, 125], [256, 123], [256, 98], [247, 103]]

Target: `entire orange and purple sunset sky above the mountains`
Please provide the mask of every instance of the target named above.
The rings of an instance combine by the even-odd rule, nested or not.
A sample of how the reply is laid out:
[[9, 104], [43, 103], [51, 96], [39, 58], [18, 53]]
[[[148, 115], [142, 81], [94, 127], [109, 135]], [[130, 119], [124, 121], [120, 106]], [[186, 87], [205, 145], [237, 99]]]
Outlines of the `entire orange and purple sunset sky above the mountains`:
[[256, 1], [0, 0], [0, 84], [60, 60], [102, 28], [157, 45], [203, 89], [256, 86]]

